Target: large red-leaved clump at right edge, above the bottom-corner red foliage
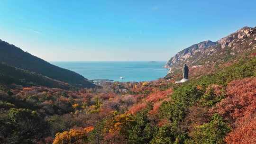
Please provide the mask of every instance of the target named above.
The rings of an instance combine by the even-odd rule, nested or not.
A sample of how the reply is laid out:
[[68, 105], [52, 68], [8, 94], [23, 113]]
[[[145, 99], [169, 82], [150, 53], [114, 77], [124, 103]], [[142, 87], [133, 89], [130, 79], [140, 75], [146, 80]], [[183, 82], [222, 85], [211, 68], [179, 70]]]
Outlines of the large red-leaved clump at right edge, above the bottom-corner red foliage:
[[232, 122], [256, 113], [256, 78], [231, 81], [227, 87], [227, 95], [211, 111], [218, 112]]

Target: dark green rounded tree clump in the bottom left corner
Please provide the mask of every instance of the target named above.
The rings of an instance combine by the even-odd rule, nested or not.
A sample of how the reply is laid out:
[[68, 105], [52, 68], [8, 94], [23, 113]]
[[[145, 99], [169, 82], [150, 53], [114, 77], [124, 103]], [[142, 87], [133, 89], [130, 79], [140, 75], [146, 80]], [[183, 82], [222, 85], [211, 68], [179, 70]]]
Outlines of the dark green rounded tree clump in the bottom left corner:
[[[31, 144], [47, 135], [47, 125], [36, 111], [11, 108], [8, 111], [6, 121], [2, 122], [1, 127], [4, 131], [1, 133], [4, 134], [7, 144]], [[10, 131], [8, 127], [11, 127]]]

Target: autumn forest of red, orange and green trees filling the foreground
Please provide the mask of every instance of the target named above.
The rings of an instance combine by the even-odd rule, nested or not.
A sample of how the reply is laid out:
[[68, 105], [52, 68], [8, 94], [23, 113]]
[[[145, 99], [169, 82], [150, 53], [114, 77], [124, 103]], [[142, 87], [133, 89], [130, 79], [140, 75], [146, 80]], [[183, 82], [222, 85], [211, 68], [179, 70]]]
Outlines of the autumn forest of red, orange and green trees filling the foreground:
[[255, 144], [256, 57], [181, 84], [2, 85], [0, 109], [2, 144]]

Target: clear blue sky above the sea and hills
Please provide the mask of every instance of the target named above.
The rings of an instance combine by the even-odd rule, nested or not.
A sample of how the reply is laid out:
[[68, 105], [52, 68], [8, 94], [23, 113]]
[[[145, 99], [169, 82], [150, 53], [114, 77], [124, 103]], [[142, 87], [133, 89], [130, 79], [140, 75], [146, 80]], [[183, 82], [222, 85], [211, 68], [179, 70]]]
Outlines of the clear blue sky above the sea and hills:
[[256, 0], [0, 0], [0, 39], [46, 61], [167, 61], [256, 27]]

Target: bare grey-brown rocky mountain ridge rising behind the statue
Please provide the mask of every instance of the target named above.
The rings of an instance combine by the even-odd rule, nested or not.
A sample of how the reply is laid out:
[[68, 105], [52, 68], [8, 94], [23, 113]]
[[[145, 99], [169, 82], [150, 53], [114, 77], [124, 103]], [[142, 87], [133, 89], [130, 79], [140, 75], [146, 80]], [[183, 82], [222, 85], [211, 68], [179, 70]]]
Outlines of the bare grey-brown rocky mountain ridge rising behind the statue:
[[170, 69], [182, 69], [184, 63], [193, 67], [226, 61], [230, 57], [249, 52], [256, 46], [256, 27], [243, 27], [217, 42], [204, 41], [192, 45], [172, 57], [165, 65]]

